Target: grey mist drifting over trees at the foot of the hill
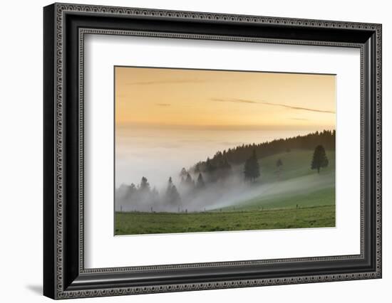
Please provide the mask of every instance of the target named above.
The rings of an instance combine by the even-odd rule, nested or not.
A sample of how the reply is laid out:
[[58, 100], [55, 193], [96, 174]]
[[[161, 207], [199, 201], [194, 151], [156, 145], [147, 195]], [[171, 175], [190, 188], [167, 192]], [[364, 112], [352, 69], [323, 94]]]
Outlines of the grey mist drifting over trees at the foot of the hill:
[[210, 211], [254, 198], [263, 190], [245, 182], [237, 172], [215, 182], [198, 182], [198, 175], [189, 176], [188, 180], [167, 181], [167, 186], [159, 189], [151, 188], [146, 179], [138, 186], [120, 186], [115, 193], [116, 211]]

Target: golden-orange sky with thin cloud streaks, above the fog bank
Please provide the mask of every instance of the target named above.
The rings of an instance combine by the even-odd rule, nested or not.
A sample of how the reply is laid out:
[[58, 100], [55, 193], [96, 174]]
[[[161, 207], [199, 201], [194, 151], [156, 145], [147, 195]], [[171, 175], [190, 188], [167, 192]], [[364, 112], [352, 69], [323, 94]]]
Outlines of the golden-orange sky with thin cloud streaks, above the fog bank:
[[336, 76], [115, 67], [116, 126], [334, 129]]

